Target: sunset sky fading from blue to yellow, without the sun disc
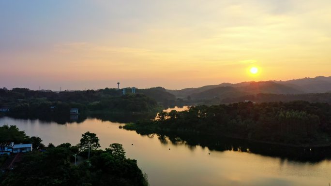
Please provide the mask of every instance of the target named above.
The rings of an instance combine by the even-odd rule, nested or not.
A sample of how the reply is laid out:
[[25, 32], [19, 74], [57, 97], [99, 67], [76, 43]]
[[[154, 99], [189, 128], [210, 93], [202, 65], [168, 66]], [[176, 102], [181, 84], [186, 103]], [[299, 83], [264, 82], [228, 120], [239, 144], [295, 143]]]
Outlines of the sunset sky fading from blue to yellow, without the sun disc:
[[331, 0], [0, 0], [0, 86], [181, 89], [331, 76], [330, 23]]

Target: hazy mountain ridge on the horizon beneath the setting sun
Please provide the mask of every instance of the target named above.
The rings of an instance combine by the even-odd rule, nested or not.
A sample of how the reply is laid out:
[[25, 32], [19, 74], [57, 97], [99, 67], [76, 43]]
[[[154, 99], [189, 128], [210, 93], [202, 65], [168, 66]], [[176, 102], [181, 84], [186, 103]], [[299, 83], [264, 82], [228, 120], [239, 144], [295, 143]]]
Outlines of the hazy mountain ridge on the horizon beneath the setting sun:
[[256, 94], [306, 94], [331, 92], [331, 76], [317, 76], [288, 81], [241, 82], [237, 84], [222, 83], [198, 88], [167, 90], [177, 98], [211, 99], [234, 98]]

